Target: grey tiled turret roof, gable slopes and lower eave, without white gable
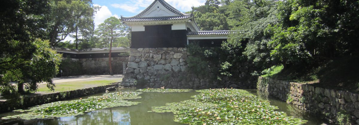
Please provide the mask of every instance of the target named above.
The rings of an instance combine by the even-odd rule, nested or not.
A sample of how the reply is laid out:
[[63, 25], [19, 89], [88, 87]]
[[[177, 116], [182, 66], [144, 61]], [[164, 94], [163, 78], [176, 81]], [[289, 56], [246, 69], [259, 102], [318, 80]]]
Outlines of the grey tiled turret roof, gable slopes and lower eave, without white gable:
[[[173, 13], [179, 15], [179, 16], [139, 18], [141, 15], [143, 15], [147, 11], [149, 11], [151, 9], [151, 7], [156, 3], [156, 1], [161, 3], [169, 11], [171, 11], [171, 12], [173, 12]], [[148, 6], [144, 11], [140, 12], [140, 14], [137, 14], [136, 16], [132, 16], [132, 17], [122, 17], [121, 16], [121, 21], [125, 21], [125, 22], [143, 22], [143, 21], [183, 20], [183, 19], [188, 19], [188, 18], [191, 18], [191, 17], [193, 17], [193, 14], [184, 14], [181, 11], [179, 11], [179, 10], [175, 9], [174, 7], [172, 7], [171, 5], [169, 5], [164, 0], [155, 0], [155, 1], [153, 1], [153, 3], [150, 6]]]

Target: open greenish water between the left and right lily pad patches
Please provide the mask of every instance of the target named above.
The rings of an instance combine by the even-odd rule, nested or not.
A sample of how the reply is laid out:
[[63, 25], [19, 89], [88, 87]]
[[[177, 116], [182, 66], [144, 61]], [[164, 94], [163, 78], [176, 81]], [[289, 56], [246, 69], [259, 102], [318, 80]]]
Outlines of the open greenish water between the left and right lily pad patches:
[[[123, 89], [120, 91], [135, 91]], [[140, 99], [129, 101], [141, 102], [138, 105], [112, 107], [103, 110], [86, 112], [83, 115], [60, 117], [55, 119], [25, 121], [27, 124], [66, 124], [66, 125], [177, 125], [173, 113], [156, 113], [153, 106], [164, 106], [166, 103], [185, 101], [199, 92], [143, 92]]]

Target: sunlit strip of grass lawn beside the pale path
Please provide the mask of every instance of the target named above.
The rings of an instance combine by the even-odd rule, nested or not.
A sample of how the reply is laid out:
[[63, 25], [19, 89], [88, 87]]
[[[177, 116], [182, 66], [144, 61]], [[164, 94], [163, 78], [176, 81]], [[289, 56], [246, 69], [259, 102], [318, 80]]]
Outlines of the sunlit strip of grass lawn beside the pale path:
[[52, 93], [52, 92], [61, 92], [69, 91], [76, 89], [84, 89], [89, 87], [103, 86], [110, 83], [118, 82], [118, 80], [93, 80], [93, 81], [70, 81], [70, 82], [61, 82], [55, 83], [55, 91], [50, 91], [46, 84], [39, 85], [37, 93]]

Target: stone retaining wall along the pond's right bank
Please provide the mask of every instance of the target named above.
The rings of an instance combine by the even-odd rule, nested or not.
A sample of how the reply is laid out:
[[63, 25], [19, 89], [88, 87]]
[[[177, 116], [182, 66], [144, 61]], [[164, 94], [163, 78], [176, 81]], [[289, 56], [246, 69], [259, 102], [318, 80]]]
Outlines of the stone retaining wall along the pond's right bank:
[[359, 96], [353, 92], [265, 77], [258, 78], [257, 89], [312, 114], [320, 114], [331, 123], [337, 123], [338, 112], [345, 111], [351, 124], [359, 124]]

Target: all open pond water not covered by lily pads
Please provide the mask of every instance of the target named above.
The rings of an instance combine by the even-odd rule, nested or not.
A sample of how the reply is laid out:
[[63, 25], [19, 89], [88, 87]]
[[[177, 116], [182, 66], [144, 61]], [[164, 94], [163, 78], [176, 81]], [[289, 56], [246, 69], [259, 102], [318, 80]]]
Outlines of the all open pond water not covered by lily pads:
[[[122, 89], [120, 91], [135, 91], [135, 89]], [[263, 99], [269, 100], [271, 105], [278, 106], [278, 111], [286, 112], [289, 116], [294, 116], [308, 120], [309, 125], [322, 124], [323, 120], [317, 116], [310, 115], [306, 111], [300, 110], [298, 107], [288, 105], [286, 102], [266, 97], [264, 94], [257, 92], [257, 90], [247, 90], [252, 94], [261, 96]], [[60, 117], [55, 119], [42, 120], [27, 120], [19, 121], [19, 124], [33, 124], [33, 125], [178, 125], [179, 123], [173, 121], [173, 113], [156, 113], [151, 111], [153, 106], [164, 106], [166, 103], [185, 101], [191, 98], [192, 95], [199, 94], [199, 92], [143, 92], [140, 94], [142, 98], [132, 99], [129, 101], [141, 102], [138, 105], [112, 107], [103, 110], [96, 110], [86, 112], [83, 115]], [[97, 96], [90, 95], [90, 96]], [[85, 97], [82, 97], [83, 99]], [[7, 115], [11, 115], [8, 113]]]

